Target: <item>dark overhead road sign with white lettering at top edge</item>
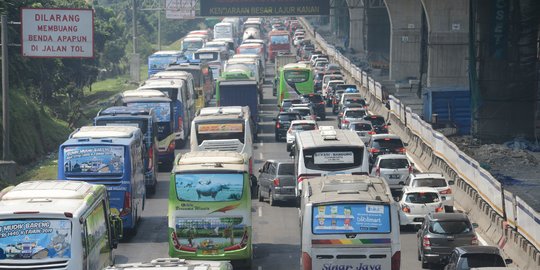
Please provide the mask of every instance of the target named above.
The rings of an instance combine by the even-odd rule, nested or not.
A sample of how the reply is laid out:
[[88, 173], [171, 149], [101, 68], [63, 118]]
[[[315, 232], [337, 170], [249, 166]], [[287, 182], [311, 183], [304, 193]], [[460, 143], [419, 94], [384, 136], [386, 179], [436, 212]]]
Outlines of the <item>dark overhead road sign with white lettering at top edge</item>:
[[201, 16], [329, 15], [329, 0], [201, 0]]

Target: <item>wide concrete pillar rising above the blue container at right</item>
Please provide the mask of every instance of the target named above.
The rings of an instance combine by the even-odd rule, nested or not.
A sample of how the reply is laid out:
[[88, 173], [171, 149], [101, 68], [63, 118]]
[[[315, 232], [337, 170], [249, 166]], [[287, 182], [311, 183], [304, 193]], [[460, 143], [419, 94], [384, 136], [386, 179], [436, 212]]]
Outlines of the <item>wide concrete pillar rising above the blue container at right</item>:
[[427, 86], [469, 87], [469, 0], [421, 0], [428, 23]]

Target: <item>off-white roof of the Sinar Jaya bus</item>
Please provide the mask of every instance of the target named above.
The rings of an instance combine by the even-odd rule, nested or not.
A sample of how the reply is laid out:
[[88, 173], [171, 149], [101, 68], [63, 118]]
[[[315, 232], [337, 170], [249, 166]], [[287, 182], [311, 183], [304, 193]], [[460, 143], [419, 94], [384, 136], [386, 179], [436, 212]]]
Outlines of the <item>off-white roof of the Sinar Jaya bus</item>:
[[330, 175], [310, 178], [307, 198], [312, 203], [362, 201], [391, 203], [390, 188], [384, 179], [367, 175]]

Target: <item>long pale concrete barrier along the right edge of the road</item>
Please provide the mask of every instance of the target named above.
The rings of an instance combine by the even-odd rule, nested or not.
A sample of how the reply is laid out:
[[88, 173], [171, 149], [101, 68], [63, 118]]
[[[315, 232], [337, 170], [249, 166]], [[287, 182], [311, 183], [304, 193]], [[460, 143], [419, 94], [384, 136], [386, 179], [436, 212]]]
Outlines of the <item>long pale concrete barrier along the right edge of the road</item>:
[[[301, 22], [307, 29], [307, 33], [313, 33], [309, 23], [304, 19]], [[383, 93], [379, 82], [352, 64], [320, 35], [317, 35], [315, 41], [322, 51], [342, 66], [346, 75], [376, 99], [371, 99], [372, 101], [379, 102], [379, 104], [370, 102], [370, 106], [383, 106]], [[540, 213], [534, 211], [519, 196], [504, 190], [500, 182], [480, 167], [476, 160], [459, 150], [444, 135], [435, 131], [430, 124], [413, 113], [411, 108], [405, 106], [398, 98], [390, 95], [388, 102], [390, 113], [396, 120], [400, 121], [407, 132], [411, 133], [411, 137], [416, 136], [421, 140], [422, 156], [428, 156], [438, 162], [439, 167], [445, 168], [448, 174], [459, 177], [458, 187], [466, 195], [460, 195], [463, 197], [463, 203], [471, 204], [471, 207], [477, 206], [469, 209], [469, 214], [479, 217], [479, 225], [490, 236], [490, 240], [501, 248], [512, 241], [512, 246], [505, 249], [505, 252], [519, 258], [523, 256], [529, 258], [529, 262], [525, 263], [525, 268], [538, 269], [540, 267]], [[417, 148], [419, 147], [420, 145], [417, 144]], [[430, 154], [425, 155], [423, 152]], [[506, 220], [503, 220], [502, 217], [505, 215]], [[514, 250], [518, 248], [521, 251]]]

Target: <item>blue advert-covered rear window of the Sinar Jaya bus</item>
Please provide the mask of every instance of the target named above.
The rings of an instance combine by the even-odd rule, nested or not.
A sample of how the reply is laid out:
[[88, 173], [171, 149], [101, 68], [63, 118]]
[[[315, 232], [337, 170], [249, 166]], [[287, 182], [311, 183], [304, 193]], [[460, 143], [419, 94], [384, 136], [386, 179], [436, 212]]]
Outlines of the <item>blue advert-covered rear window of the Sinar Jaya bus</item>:
[[313, 205], [313, 234], [390, 233], [390, 206], [368, 203]]

